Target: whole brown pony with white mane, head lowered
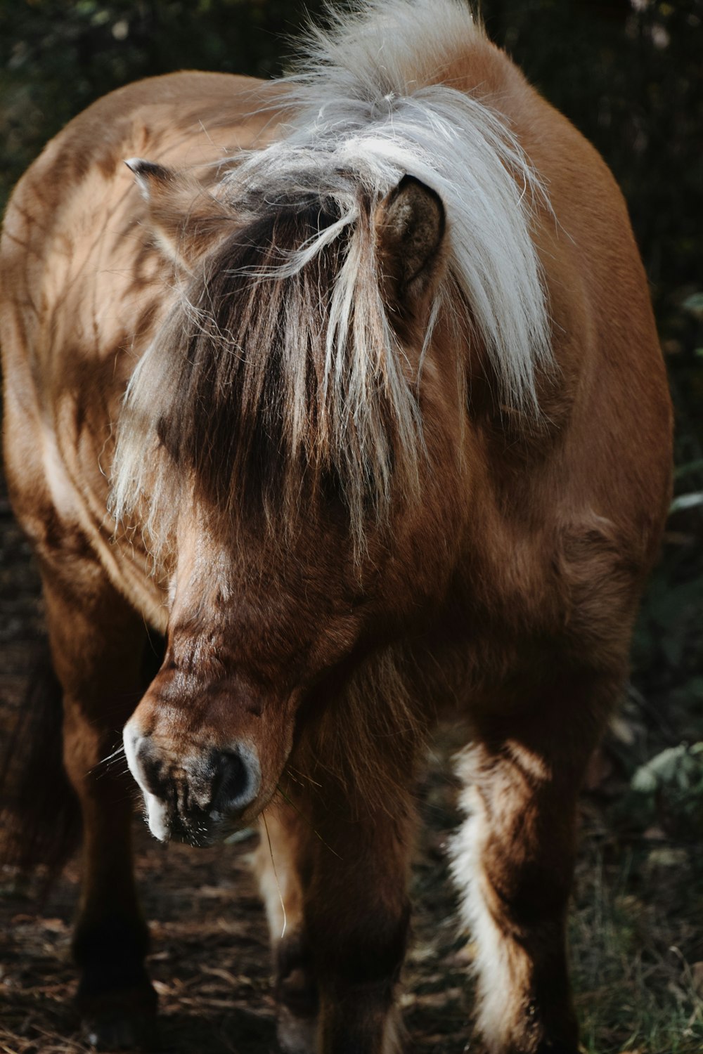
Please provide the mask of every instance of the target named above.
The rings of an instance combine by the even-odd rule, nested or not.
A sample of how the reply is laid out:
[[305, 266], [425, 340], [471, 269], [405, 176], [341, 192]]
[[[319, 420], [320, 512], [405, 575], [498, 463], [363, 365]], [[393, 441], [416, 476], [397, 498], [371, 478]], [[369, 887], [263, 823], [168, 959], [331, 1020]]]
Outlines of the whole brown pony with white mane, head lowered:
[[124, 725], [157, 838], [268, 821], [282, 1048], [395, 1051], [443, 709], [469, 726], [479, 1026], [492, 1052], [575, 1054], [577, 797], [670, 477], [598, 154], [458, 0], [363, 0], [288, 79], [175, 74], [72, 121], [7, 210], [1, 321], [98, 1041], [148, 1042], [156, 1002], [130, 798], [96, 770]]

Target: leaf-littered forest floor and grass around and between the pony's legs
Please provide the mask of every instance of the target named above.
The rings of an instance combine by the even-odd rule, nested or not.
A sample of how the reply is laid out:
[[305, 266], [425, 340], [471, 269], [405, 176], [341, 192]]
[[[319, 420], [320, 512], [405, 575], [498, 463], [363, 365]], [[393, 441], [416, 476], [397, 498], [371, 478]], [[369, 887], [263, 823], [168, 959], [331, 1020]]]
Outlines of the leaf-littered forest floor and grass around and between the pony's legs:
[[[28, 547], [0, 495], [0, 735], [22, 698], [42, 635]], [[582, 799], [581, 851], [570, 916], [575, 999], [589, 1054], [700, 1054], [703, 1049], [701, 828], [637, 813], [629, 777], [639, 759], [688, 729], [652, 717], [632, 691], [594, 758]], [[701, 738], [700, 736], [698, 737]], [[483, 1050], [472, 1035], [472, 945], [462, 936], [448, 876], [457, 822], [443, 730], [419, 788], [424, 831], [413, 872], [413, 939], [402, 997], [409, 1051]], [[256, 835], [208, 851], [162, 846], [135, 818], [137, 873], [152, 932], [149, 969], [165, 1054], [276, 1050], [263, 913], [250, 874]], [[47, 900], [31, 879], [0, 873], [0, 1052], [90, 1051], [72, 1007], [70, 940], [79, 889], [73, 860]]]

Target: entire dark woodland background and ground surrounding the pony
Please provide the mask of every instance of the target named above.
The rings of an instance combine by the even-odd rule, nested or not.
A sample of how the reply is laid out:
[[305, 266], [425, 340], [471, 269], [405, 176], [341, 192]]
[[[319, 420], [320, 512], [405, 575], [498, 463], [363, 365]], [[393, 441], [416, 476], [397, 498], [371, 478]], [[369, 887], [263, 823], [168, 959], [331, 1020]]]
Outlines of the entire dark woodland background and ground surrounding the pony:
[[[319, 0], [306, 6], [321, 9]], [[613, 170], [668, 366], [675, 504], [638, 622], [632, 685], [589, 774], [570, 932], [586, 1049], [692, 1054], [703, 1046], [703, 0], [484, 0], [481, 12]], [[297, 0], [0, 0], [0, 208], [93, 99], [178, 69], [275, 76], [294, 51], [285, 37], [304, 21]], [[40, 631], [27, 548], [0, 493], [0, 735]], [[437, 757], [451, 745], [440, 743]], [[406, 1018], [414, 1050], [458, 1054], [470, 948], [448, 921], [444, 844], [455, 815], [437, 757], [425, 786]], [[176, 847], [164, 857], [142, 841], [138, 858], [170, 1049], [268, 1051], [266, 937], [241, 854]], [[65, 1009], [77, 882], [73, 864], [50, 907], [37, 909], [16, 883], [3, 900], [0, 881], [0, 1049], [11, 1054], [86, 1049]]]

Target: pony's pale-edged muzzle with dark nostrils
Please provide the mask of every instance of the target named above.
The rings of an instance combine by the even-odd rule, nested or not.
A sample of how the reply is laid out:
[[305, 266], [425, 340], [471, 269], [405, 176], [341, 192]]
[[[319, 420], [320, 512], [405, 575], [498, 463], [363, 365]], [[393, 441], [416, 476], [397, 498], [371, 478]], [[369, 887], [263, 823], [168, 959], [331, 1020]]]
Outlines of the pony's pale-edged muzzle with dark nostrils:
[[149, 827], [160, 841], [201, 846], [227, 837], [261, 786], [256, 753], [243, 743], [174, 758], [128, 722], [124, 753], [144, 796]]

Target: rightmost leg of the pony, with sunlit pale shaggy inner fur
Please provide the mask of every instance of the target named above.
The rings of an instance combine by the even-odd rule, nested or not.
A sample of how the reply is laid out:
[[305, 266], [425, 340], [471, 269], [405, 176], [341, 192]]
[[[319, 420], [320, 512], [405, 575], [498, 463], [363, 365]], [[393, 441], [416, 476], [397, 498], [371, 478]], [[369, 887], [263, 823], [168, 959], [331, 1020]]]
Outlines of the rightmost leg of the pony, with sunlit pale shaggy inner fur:
[[461, 756], [468, 813], [453, 873], [476, 949], [477, 1026], [491, 1054], [577, 1054], [566, 959], [578, 794], [612, 690], [581, 685], [484, 719]]

